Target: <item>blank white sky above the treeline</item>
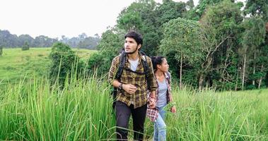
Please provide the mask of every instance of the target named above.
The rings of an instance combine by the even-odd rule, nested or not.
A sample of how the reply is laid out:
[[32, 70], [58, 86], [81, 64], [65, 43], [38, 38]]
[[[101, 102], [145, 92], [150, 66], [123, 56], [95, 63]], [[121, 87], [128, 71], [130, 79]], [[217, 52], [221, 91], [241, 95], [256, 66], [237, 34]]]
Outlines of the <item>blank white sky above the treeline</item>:
[[[32, 37], [101, 35], [135, 0], [1, 0], [0, 30]], [[161, 2], [162, 0], [155, 0]], [[177, 0], [179, 1], [179, 0]], [[187, 1], [187, 0], [181, 0]], [[194, 0], [197, 5], [198, 0]]]

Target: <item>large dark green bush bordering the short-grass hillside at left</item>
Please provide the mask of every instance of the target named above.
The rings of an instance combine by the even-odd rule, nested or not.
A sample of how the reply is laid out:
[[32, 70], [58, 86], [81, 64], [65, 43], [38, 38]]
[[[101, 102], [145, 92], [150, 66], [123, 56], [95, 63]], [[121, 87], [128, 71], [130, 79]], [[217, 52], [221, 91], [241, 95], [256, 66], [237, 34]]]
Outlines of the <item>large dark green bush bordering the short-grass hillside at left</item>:
[[83, 62], [79, 61], [79, 57], [74, 54], [69, 45], [62, 42], [53, 44], [49, 58], [52, 60], [49, 72], [51, 85], [58, 80], [59, 85], [63, 87], [66, 78], [79, 75], [83, 71]]

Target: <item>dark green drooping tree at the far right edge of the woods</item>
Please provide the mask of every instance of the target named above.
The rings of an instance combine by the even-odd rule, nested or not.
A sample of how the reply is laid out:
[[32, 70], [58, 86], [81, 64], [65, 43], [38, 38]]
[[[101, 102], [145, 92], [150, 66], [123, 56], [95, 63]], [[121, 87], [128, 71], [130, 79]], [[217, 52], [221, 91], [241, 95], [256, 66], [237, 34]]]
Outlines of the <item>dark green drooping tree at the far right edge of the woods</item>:
[[[267, 53], [263, 54], [266, 50], [266, 44], [263, 44], [266, 32], [265, 24], [260, 16], [253, 16], [244, 21], [243, 27], [245, 28], [242, 42], [243, 54], [247, 66], [245, 73], [250, 73], [248, 77], [245, 76], [245, 84], [260, 87], [265, 75], [265, 68], [267, 68], [264, 65], [266, 64], [265, 56], [267, 56]], [[259, 84], [258, 86], [255, 84], [256, 82]]]

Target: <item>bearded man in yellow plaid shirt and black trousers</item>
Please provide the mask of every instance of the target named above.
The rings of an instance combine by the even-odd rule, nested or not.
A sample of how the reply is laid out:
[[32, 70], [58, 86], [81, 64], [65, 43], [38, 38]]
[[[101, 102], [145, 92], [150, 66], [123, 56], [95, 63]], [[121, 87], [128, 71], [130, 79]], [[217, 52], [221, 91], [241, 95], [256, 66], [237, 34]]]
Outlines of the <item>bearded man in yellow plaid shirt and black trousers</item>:
[[[127, 128], [131, 115], [134, 140], [143, 140], [147, 102], [150, 107], [156, 106], [157, 83], [151, 59], [139, 51], [143, 43], [141, 35], [130, 31], [124, 36], [124, 39], [124, 51], [112, 60], [109, 71], [109, 81], [113, 87], [117, 88], [115, 92], [117, 140], [127, 140]], [[122, 64], [120, 57], [124, 54], [126, 59], [124, 59], [125, 62], [122, 66], [122, 74], [120, 77], [116, 77]], [[148, 71], [145, 70], [144, 64], [147, 65]], [[147, 99], [148, 91], [150, 92], [150, 101]]]

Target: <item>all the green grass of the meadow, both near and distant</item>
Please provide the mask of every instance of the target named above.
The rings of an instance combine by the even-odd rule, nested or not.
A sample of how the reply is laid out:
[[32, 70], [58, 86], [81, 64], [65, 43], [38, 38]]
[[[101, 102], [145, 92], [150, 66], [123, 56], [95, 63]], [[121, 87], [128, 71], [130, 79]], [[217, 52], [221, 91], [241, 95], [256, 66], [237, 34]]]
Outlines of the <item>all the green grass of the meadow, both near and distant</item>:
[[[42, 75], [49, 70], [49, 52], [4, 49], [0, 78], [16, 81], [0, 82], [0, 140], [115, 140], [112, 87], [106, 78], [73, 77], [63, 89], [51, 86]], [[77, 53], [87, 59], [92, 51]], [[167, 113], [167, 140], [268, 140], [268, 89], [216, 92], [173, 85], [173, 97], [177, 112]], [[148, 119], [144, 134], [152, 140]]]

